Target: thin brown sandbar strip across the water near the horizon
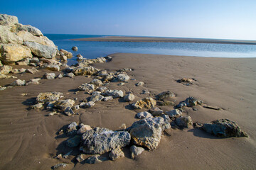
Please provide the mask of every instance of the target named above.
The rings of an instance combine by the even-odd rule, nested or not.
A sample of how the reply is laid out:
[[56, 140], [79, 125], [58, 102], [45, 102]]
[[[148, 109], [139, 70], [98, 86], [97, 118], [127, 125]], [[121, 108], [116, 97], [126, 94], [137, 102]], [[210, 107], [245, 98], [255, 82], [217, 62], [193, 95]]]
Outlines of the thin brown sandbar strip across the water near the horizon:
[[76, 38], [78, 41], [105, 41], [105, 42], [194, 42], [194, 43], [220, 43], [220, 44], [244, 44], [256, 45], [256, 40], [220, 40], [203, 38], [151, 38], [129, 36], [107, 36], [101, 38]]

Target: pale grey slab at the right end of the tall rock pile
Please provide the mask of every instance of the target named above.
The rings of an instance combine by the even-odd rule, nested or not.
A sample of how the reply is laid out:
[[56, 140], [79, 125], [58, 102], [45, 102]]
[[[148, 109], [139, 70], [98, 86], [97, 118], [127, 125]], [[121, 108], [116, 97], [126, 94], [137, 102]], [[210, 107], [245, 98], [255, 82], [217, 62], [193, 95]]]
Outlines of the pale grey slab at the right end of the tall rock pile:
[[47, 45], [41, 45], [38, 42], [24, 42], [24, 45], [26, 45], [31, 52], [33, 52], [34, 55], [38, 57], [44, 57], [47, 59], [52, 59], [56, 55], [56, 48], [50, 47]]

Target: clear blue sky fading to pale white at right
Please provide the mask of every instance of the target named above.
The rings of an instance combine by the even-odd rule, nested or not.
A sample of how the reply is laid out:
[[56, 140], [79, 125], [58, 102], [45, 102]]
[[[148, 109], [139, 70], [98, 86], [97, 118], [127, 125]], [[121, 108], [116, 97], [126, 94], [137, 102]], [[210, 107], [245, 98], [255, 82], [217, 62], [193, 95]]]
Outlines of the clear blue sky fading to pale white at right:
[[256, 40], [255, 0], [0, 0], [42, 33]]

